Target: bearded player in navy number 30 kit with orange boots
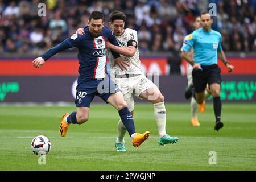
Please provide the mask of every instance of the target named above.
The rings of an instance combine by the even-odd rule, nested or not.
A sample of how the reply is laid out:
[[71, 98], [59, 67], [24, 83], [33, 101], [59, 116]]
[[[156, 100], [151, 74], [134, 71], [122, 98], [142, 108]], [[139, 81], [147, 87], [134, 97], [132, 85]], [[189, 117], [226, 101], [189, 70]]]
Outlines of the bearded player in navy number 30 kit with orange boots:
[[[49, 49], [43, 56], [32, 61], [35, 68], [41, 68], [50, 57], [56, 53], [71, 47], [79, 49], [79, 78], [77, 80], [77, 92], [75, 104], [77, 111], [65, 113], [61, 119], [59, 133], [65, 137], [69, 125], [82, 124], [89, 119], [89, 107], [94, 96], [99, 96], [118, 110], [123, 124], [126, 126], [134, 147], [140, 146], [150, 133], [135, 132], [133, 116], [127, 108], [121, 90], [110, 78], [106, 77], [106, 52], [105, 42], [109, 41], [118, 45], [115, 36], [108, 27], [104, 27], [103, 14], [93, 11], [89, 17], [88, 27], [85, 27], [85, 35], [73, 34], [71, 38], [64, 40], [57, 46]], [[115, 59], [121, 59], [120, 55], [112, 52]], [[106, 78], [105, 78], [106, 77]]]

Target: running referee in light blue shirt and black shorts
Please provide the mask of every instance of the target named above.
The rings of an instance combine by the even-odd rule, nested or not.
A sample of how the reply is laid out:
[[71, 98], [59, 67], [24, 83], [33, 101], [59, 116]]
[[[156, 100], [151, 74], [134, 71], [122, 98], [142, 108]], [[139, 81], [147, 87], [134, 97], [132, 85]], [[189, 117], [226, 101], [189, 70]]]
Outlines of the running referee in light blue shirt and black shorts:
[[[212, 23], [213, 20], [209, 13], [201, 14], [202, 28], [193, 31], [185, 38], [182, 57], [193, 67], [193, 85], [198, 104], [202, 104], [205, 100], [205, 86], [209, 85], [213, 96], [213, 110], [216, 118], [214, 130], [218, 131], [224, 125], [221, 122], [221, 69], [217, 65], [217, 58], [220, 58], [229, 72], [232, 72], [234, 67], [226, 59], [221, 47], [221, 34], [212, 30]], [[194, 60], [188, 54], [191, 48], [194, 49]]]

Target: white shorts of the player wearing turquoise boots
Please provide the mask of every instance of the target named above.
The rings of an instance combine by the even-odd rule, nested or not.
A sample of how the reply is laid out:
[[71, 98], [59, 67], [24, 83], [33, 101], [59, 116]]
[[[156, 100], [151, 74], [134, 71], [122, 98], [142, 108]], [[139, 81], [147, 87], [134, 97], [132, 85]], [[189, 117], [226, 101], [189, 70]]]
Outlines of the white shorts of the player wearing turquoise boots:
[[155, 86], [145, 75], [134, 76], [130, 78], [115, 78], [115, 84], [122, 90], [123, 97], [127, 103], [129, 111], [134, 109], [134, 98], [146, 91], [147, 89]]

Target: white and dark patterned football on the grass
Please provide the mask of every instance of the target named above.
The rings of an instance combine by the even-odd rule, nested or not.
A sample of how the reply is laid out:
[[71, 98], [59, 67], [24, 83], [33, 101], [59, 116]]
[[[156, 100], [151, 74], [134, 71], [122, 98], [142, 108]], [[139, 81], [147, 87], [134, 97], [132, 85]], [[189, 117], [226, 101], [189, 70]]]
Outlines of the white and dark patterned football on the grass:
[[51, 141], [44, 135], [32, 139], [31, 150], [36, 154], [48, 154], [51, 150]]

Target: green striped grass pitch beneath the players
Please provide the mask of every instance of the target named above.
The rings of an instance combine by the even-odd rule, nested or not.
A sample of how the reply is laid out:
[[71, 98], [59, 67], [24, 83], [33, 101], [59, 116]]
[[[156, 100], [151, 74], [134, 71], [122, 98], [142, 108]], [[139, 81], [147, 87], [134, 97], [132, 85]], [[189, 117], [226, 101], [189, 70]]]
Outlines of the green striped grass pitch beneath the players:
[[[176, 144], [158, 145], [152, 104], [135, 104], [138, 132], [151, 135], [140, 147], [126, 134], [127, 152], [116, 152], [119, 115], [110, 105], [92, 104], [89, 121], [72, 125], [60, 137], [61, 115], [75, 105], [0, 106], [0, 170], [255, 170], [256, 104], [222, 104], [224, 128], [214, 131], [212, 103], [198, 114], [200, 127], [190, 123], [190, 106], [166, 104], [167, 133], [180, 138]], [[30, 149], [32, 138], [46, 135], [52, 143], [46, 164]], [[210, 151], [217, 164], [209, 164]]]

